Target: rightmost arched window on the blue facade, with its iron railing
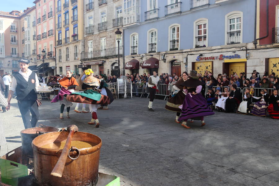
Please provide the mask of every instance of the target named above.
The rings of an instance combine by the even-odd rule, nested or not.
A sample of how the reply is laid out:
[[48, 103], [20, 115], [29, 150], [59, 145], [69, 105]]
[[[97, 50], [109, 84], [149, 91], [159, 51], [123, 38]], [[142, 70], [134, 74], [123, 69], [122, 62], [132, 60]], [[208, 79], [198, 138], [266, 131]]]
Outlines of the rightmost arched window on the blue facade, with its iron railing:
[[226, 15], [225, 19], [225, 44], [242, 43], [242, 17], [243, 13], [240, 11], [233, 11]]

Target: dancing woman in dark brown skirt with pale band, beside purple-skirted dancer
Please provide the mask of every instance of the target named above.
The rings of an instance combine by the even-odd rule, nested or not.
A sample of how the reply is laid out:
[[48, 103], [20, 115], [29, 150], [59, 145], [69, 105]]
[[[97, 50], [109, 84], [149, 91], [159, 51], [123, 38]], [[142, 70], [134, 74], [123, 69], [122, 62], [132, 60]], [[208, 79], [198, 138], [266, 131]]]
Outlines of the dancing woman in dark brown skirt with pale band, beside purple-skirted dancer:
[[[172, 87], [175, 90], [175, 92], [173, 93], [173, 97], [170, 98], [167, 103], [165, 108], [167, 110], [176, 112], [176, 117], [175, 117], [175, 122], [176, 123], [181, 123], [178, 118], [181, 114], [181, 109], [179, 108], [180, 105], [183, 104], [184, 99], [185, 99], [185, 93], [183, 91], [183, 86], [181, 86], [180, 84], [183, 83], [184, 81], [187, 81], [188, 79], [188, 73], [184, 72], [182, 73], [182, 79], [179, 79]], [[194, 120], [191, 120], [191, 123], [194, 122]], [[182, 123], [186, 123], [186, 122], [182, 122]]]

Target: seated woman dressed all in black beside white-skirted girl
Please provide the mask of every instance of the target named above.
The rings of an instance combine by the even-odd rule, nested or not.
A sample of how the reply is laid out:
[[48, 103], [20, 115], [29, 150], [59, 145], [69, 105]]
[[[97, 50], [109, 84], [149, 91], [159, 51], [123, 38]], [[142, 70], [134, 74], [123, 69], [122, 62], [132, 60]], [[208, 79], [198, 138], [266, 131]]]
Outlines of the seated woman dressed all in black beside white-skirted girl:
[[241, 101], [241, 92], [237, 90], [236, 84], [231, 86], [231, 93], [229, 98], [226, 100], [225, 112], [234, 112], [237, 108], [237, 105], [240, 104]]

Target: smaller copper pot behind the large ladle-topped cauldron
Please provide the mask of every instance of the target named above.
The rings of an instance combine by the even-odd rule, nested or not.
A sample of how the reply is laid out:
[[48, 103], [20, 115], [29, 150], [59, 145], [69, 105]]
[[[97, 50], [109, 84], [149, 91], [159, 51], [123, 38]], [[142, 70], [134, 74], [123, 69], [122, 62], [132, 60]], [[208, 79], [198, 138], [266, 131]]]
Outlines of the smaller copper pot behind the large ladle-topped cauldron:
[[33, 148], [31, 146], [33, 139], [35, 139], [38, 135], [57, 131], [59, 131], [58, 128], [44, 125], [39, 125], [39, 127], [33, 127], [20, 131], [22, 153], [27, 157], [33, 158]]

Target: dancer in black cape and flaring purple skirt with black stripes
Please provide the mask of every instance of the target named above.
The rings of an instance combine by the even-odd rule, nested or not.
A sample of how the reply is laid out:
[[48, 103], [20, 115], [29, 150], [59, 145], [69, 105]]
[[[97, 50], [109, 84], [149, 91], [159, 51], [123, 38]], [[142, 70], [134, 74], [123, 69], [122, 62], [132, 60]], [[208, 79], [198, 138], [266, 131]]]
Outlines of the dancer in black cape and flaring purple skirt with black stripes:
[[192, 70], [190, 76], [191, 78], [180, 84], [184, 87], [183, 91], [186, 95], [183, 104], [179, 106], [182, 112], [178, 120], [184, 120], [184, 123], [181, 123], [181, 125], [185, 128], [191, 128], [186, 123], [190, 118], [201, 120], [201, 126], [204, 126], [206, 124], [204, 122], [204, 116], [214, 114], [212, 109], [207, 105], [206, 99], [200, 94], [204, 83], [198, 80], [197, 71]]

